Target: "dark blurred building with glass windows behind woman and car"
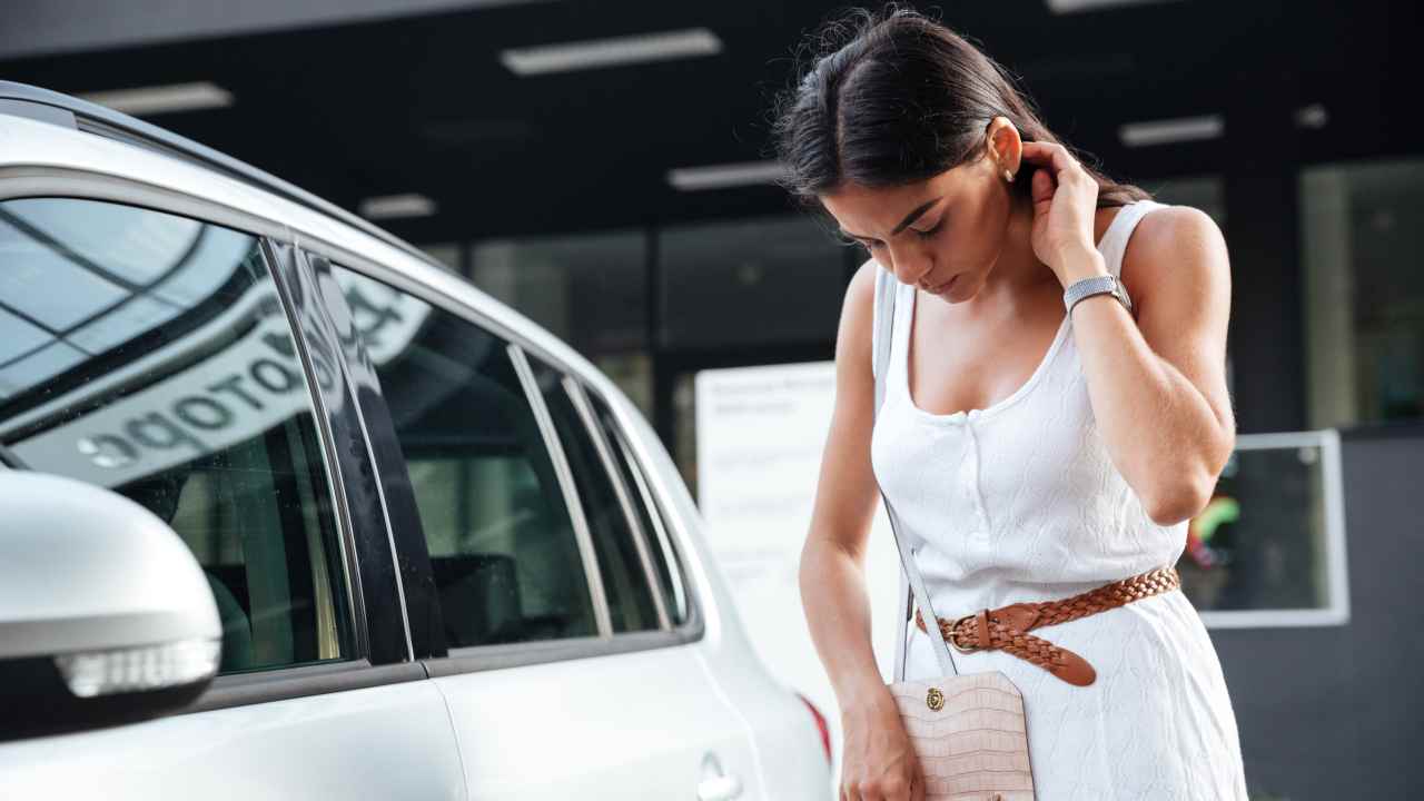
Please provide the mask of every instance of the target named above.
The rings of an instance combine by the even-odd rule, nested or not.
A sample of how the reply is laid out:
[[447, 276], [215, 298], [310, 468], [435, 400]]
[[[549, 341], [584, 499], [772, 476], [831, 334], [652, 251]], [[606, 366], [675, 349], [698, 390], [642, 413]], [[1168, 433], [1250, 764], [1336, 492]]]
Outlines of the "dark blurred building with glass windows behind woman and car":
[[[696, 492], [695, 376], [830, 359], [866, 258], [793, 208], [766, 161], [769, 98], [793, 46], [836, 9], [7, 0], [0, 77], [128, 111], [417, 244], [611, 373]], [[1242, 574], [1303, 576], [1304, 589], [1270, 584], [1257, 600], [1330, 613], [1212, 629], [1263, 797], [1424, 781], [1410, 668], [1424, 656], [1410, 611], [1424, 556], [1420, 17], [1413, 1], [1377, 0], [943, 10], [1021, 76], [1059, 135], [1226, 232], [1239, 430], [1296, 438], [1255, 440], [1277, 456], [1242, 452], [1230, 492], [1273, 489], [1255, 527], [1230, 503], [1193, 526], [1219, 552], [1199, 556], [1229, 556], [1235, 537]], [[1343, 497], [1339, 526], [1312, 522], [1329, 517], [1329, 492]], [[1252, 556], [1297, 529], [1306, 556]], [[1331, 584], [1346, 546], [1349, 582]], [[1208, 576], [1195, 600], [1249, 611], [1243, 582]], [[1317, 604], [1331, 586], [1349, 597]]]

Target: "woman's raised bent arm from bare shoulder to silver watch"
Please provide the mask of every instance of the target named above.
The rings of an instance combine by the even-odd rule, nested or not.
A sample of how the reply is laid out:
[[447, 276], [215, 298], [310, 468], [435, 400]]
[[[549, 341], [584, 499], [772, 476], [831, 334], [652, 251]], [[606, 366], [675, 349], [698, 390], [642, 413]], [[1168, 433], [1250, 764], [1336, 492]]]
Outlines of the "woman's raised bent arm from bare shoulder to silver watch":
[[[1091, 255], [1064, 264], [1067, 282], [1106, 274]], [[1074, 306], [1074, 341], [1114, 463], [1152, 520], [1171, 526], [1206, 506], [1236, 445], [1226, 242], [1195, 208], [1156, 210], [1128, 239], [1122, 282], [1136, 322], [1116, 299], [1092, 296]]]

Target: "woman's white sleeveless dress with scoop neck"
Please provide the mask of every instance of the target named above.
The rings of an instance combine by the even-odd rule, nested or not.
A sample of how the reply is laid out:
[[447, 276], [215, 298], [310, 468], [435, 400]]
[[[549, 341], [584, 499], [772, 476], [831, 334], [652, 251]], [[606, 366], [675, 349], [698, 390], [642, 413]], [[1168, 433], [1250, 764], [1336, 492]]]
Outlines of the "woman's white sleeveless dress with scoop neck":
[[[1098, 245], [1114, 275], [1136, 222], [1161, 205], [1138, 201], [1115, 215]], [[877, 279], [894, 281], [883, 268]], [[1017, 392], [988, 409], [931, 415], [910, 399], [906, 372], [916, 295], [896, 286], [871, 462], [906, 547], [923, 543], [917, 564], [936, 613], [1062, 599], [1176, 564], [1188, 523], [1153, 523], [1114, 466], [1071, 318]], [[1180, 590], [1034, 634], [1087, 658], [1096, 681], [1074, 687], [1002, 651], [954, 660], [960, 673], [1002, 671], [1024, 694], [1040, 801], [1246, 798], [1220, 663]], [[911, 623], [906, 678], [940, 674], [933, 647]]]

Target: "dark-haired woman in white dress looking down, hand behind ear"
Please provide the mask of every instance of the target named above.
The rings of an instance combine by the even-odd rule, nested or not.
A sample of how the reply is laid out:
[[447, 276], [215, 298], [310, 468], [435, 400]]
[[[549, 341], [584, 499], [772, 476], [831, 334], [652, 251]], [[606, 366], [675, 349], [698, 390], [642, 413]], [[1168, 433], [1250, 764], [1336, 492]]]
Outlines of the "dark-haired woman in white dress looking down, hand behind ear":
[[[921, 798], [870, 647], [877, 483], [946, 624], [1171, 569], [1235, 443], [1230, 275], [1209, 217], [1081, 164], [941, 24], [854, 11], [816, 41], [826, 54], [778, 107], [785, 184], [871, 259], [842, 308], [800, 587], [842, 710], [842, 798]], [[879, 418], [877, 272], [897, 282]], [[1067, 288], [1105, 275], [1131, 308], [1094, 294], [1065, 314]], [[1156, 591], [1034, 631], [1087, 677], [1001, 648], [954, 654], [1022, 693], [1038, 798], [1246, 798], [1212, 643], [1179, 589]], [[940, 676], [926, 629], [911, 623], [906, 647], [906, 678]]]

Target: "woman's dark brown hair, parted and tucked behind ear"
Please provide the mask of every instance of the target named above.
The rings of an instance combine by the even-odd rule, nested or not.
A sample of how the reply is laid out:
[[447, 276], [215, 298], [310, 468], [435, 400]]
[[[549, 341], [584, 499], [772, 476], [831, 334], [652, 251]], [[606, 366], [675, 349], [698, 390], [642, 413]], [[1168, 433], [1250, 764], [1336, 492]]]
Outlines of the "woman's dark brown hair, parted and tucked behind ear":
[[[890, 3], [852, 9], [802, 46], [792, 88], [773, 105], [779, 184], [807, 205], [842, 182], [897, 187], [978, 158], [994, 117], [1024, 141], [1058, 143], [1098, 181], [1098, 207], [1151, 195], [1104, 175], [1048, 130], [1004, 67], [944, 24]], [[807, 63], [806, 58], [799, 58]], [[1014, 191], [1027, 195], [1032, 170]]]

